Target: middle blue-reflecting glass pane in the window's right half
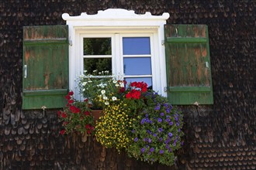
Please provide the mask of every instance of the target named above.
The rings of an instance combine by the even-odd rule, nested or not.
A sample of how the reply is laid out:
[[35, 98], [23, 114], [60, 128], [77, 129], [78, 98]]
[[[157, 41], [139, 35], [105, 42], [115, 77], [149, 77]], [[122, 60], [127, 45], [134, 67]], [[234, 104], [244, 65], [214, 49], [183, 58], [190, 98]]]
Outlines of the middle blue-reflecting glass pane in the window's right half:
[[125, 75], [150, 75], [150, 57], [125, 57], [123, 58], [123, 72]]

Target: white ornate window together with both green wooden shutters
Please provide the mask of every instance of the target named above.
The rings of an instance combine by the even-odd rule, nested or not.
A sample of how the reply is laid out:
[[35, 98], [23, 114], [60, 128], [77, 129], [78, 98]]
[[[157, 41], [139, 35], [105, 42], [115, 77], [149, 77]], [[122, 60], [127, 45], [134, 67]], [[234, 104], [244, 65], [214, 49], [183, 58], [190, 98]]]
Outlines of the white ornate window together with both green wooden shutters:
[[213, 104], [207, 26], [125, 9], [62, 17], [67, 26], [23, 28], [22, 109], [64, 107], [68, 90], [81, 99], [75, 78], [84, 70], [143, 80], [171, 104]]

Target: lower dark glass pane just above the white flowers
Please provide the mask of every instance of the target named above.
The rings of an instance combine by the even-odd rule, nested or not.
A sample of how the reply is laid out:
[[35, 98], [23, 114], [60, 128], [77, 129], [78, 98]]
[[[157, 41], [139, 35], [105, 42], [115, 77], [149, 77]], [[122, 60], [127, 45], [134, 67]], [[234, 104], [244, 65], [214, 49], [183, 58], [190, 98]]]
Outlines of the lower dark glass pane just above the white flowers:
[[108, 70], [112, 74], [112, 59], [111, 58], [86, 58], [84, 59], [84, 70], [87, 73], [92, 74], [93, 70], [106, 71]]

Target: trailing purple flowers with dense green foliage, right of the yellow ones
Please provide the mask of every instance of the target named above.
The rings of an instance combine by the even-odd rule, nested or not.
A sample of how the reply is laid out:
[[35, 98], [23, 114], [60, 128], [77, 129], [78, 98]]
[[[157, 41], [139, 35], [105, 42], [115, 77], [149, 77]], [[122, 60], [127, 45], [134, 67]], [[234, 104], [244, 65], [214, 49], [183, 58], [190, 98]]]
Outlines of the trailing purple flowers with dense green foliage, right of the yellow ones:
[[150, 92], [145, 96], [147, 107], [133, 121], [128, 155], [147, 162], [173, 165], [174, 151], [182, 145], [182, 113], [164, 97]]

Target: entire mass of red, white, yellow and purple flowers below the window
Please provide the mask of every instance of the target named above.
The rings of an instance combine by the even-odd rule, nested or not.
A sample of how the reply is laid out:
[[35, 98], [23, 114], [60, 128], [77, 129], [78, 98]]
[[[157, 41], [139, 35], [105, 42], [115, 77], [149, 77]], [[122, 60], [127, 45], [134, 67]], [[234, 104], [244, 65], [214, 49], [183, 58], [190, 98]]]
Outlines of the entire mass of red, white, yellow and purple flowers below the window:
[[61, 134], [72, 131], [91, 134], [94, 129], [89, 104], [102, 108], [96, 121], [95, 137], [106, 148], [124, 150], [145, 162], [173, 165], [175, 151], [182, 147], [182, 112], [168, 104], [147, 83], [116, 80], [108, 72], [82, 74], [78, 86], [84, 102], [67, 95], [68, 104], [58, 116], [64, 126]]

